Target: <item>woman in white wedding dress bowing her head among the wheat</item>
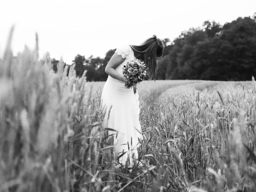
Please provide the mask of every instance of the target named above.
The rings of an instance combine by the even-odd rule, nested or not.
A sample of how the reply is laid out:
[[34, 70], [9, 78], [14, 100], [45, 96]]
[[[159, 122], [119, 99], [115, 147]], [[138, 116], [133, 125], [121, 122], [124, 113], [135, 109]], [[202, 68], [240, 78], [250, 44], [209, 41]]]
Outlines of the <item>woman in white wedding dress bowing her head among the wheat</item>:
[[122, 67], [128, 60], [138, 59], [146, 64], [149, 79], [156, 80], [156, 58], [162, 56], [164, 48], [164, 42], [156, 35], [139, 46], [126, 44], [116, 49], [105, 68], [108, 79], [103, 87], [101, 100], [107, 113], [103, 126], [116, 130], [108, 132], [109, 135], [114, 135], [114, 151], [120, 157], [119, 162], [125, 164], [128, 161], [130, 167], [133, 160], [138, 158], [137, 148], [142, 141], [139, 94], [136, 84], [133, 89], [125, 88]]

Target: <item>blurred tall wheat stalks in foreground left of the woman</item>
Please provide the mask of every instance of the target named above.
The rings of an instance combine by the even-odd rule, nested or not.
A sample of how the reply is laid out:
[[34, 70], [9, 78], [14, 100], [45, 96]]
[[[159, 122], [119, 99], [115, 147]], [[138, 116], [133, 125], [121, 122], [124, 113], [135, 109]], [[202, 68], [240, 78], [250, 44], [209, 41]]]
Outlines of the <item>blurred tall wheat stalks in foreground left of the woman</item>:
[[62, 61], [50, 72], [36, 49], [13, 57], [12, 31], [0, 62], [0, 190], [76, 191], [98, 168], [90, 88], [74, 71], [66, 77]]

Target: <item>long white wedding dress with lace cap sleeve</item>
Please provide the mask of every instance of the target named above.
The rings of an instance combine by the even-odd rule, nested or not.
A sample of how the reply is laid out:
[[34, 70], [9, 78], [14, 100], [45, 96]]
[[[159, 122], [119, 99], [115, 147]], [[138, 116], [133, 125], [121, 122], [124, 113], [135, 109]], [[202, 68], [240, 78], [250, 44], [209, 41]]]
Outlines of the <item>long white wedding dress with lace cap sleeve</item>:
[[[128, 60], [135, 60], [136, 58], [129, 45], [121, 46], [115, 52], [122, 56], [122, 58], [125, 58], [124, 62], [115, 69], [118, 73], [122, 74], [124, 64]], [[109, 118], [108, 112], [106, 113], [103, 126], [118, 132], [117, 137], [114, 131], [109, 131], [108, 134], [114, 134], [115, 154], [120, 156], [123, 152], [126, 152], [119, 158], [119, 162], [125, 164], [128, 159], [130, 160], [130, 166], [132, 161], [138, 158], [137, 147], [140, 145], [138, 138], [142, 140], [138, 98], [138, 91], [134, 94], [133, 88], [125, 88], [124, 83], [108, 76], [102, 90], [101, 100], [102, 106], [105, 106], [107, 111], [111, 106], [112, 108]]]

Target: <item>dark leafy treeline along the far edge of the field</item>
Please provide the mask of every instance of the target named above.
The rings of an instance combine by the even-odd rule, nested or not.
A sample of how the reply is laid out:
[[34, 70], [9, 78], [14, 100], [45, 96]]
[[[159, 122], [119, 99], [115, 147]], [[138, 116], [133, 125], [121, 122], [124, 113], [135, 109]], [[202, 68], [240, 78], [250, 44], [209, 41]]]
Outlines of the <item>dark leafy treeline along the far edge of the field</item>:
[[[256, 14], [224, 26], [205, 21], [173, 42], [164, 41], [168, 46], [158, 59], [158, 79], [250, 80], [256, 76]], [[105, 81], [104, 69], [114, 51], [109, 50], [105, 58], [78, 54], [72, 63], [76, 76], [85, 72], [87, 81]], [[52, 63], [56, 72], [58, 60]]]

